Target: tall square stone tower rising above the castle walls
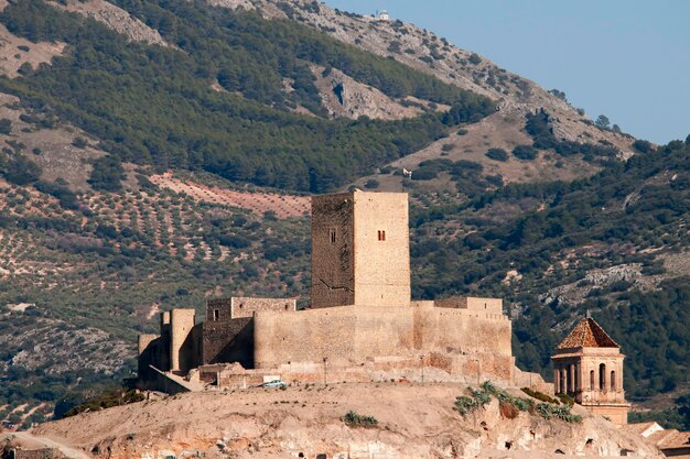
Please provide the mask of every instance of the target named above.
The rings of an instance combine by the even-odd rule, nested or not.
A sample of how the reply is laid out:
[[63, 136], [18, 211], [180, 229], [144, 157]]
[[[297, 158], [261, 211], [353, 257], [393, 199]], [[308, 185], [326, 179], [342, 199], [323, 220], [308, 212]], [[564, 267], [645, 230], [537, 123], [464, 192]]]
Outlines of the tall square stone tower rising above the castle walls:
[[407, 193], [312, 198], [312, 307], [410, 304]]

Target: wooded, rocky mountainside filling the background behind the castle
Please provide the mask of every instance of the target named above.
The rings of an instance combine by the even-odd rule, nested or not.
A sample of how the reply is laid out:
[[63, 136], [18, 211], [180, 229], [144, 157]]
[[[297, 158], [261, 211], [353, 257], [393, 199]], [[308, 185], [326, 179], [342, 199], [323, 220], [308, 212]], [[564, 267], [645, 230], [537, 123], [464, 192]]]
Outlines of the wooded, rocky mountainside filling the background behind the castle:
[[687, 143], [317, 2], [0, 9], [0, 420], [117, 383], [159, 310], [305, 304], [309, 194], [353, 184], [411, 194], [414, 297], [506, 297], [522, 368], [591, 309], [630, 394], [688, 390]]

